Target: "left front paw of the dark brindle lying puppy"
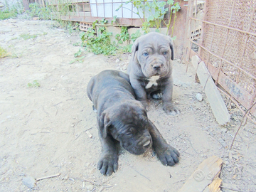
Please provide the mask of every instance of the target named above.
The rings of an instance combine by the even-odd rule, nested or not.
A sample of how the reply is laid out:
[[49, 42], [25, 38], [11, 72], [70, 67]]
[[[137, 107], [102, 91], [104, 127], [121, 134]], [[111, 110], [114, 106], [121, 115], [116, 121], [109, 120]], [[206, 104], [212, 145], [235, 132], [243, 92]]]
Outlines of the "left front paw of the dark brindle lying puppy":
[[102, 154], [97, 169], [100, 170], [102, 175], [111, 176], [113, 172], [117, 171], [117, 159], [117, 156], [113, 156], [113, 154]]

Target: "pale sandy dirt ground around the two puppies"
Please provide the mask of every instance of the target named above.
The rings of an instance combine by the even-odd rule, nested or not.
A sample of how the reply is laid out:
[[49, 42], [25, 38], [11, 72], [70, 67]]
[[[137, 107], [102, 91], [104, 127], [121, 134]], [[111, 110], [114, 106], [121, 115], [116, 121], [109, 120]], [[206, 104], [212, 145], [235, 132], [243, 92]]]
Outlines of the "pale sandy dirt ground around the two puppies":
[[[22, 38], [28, 35], [36, 36]], [[12, 55], [0, 59], [0, 191], [178, 191], [213, 155], [224, 161], [223, 191], [256, 191], [255, 124], [247, 121], [229, 151], [242, 114], [231, 104], [230, 124], [218, 125], [192, 66], [186, 73], [179, 60], [174, 61], [174, 100], [181, 114], [165, 114], [156, 100], [148, 112], [180, 151], [179, 164], [166, 167], [153, 151], [134, 156], [121, 149], [117, 173], [102, 176], [96, 169], [101, 146], [87, 82], [102, 70], [126, 70], [130, 55], [107, 58], [84, 51], [82, 63], [70, 64], [80, 49], [74, 43], [80, 43], [78, 33], [52, 21], [0, 21], [0, 46]], [[32, 189], [22, 183], [25, 176], [58, 173]]]

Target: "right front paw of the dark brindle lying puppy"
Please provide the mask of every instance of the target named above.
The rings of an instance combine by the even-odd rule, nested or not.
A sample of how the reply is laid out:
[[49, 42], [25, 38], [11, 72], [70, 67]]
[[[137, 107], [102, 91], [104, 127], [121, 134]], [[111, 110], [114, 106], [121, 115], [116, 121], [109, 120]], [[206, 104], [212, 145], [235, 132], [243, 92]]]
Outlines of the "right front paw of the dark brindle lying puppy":
[[180, 156], [178, 150], [167, 144], [165, 149], [156, 149], [156, 154], [165, 166], [174, 166], [178, 163], [178, 157]]

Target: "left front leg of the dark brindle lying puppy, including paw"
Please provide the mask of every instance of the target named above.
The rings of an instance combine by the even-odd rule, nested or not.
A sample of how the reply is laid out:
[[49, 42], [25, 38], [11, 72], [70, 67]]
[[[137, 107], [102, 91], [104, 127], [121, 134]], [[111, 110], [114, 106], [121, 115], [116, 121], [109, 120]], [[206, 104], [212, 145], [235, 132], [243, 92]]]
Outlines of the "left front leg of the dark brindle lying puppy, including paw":
[[117, 145], [114, 139], [110, 136], [104, 138], [101, 134], [100, 142], [102, 144], [102, 154], [100, 155], [100, 161], [98, 161], [97, 169], [100, 170], [101, 174], [111, 176], [118, 168]]

